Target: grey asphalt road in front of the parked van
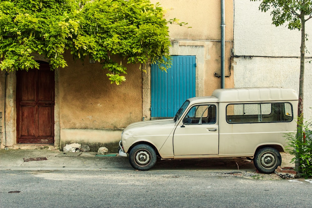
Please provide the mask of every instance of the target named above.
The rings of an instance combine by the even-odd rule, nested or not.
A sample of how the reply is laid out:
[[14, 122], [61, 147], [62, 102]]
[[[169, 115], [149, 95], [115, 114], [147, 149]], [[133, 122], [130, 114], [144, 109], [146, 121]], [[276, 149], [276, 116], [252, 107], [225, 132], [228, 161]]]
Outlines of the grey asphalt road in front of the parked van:
[[263, 178], [248, 171], [2, 170], [0, 178], [0, 207], [10, 208], [301, 208], [312, 204], [312, 180]]

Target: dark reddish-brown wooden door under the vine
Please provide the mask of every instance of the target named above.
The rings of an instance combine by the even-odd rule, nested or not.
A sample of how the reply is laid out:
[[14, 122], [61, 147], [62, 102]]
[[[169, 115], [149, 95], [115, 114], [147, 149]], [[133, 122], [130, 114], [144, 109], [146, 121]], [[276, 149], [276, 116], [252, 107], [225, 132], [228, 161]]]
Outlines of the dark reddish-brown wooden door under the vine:
[[17, 143], [54, 143], [54, 71], [18, 70], [16, 85]]

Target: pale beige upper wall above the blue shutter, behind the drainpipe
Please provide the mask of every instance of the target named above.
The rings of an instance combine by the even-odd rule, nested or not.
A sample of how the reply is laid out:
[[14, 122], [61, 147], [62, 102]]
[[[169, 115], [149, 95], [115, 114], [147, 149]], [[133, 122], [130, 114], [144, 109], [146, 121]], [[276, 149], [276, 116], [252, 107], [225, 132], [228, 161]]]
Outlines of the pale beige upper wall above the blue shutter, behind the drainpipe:
[[[189, 27], [170, 24], [169, 35], [173, 39], [220, 40], [221, 1], [220, 0], [151, 0], [160, 3], [167, 20], [177, 18]], [[226, 40], [233, 39], [233, 0], [225, 0]]]

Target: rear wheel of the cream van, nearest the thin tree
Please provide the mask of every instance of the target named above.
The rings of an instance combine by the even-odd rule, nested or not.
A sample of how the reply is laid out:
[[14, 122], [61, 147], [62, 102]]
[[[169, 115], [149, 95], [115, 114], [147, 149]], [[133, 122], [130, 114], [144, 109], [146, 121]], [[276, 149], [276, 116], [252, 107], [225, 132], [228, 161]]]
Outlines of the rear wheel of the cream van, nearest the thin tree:
[[275, 169], [282, 163], [279, 151], [272, 147], [264, 147], [256, 152], [253, 159], [256, 169], [261, 173], [274, 173]]

